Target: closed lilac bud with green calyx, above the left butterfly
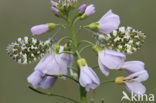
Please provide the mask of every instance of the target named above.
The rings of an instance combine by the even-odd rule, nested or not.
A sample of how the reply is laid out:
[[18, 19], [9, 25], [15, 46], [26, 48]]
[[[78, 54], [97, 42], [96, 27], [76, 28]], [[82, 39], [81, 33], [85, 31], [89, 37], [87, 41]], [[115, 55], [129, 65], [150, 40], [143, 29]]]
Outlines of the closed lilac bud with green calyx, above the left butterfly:
[[36, 25], [31, 28], [31, 32], [32, 32], [32, 35], [41, 35], [50, 30], [53, 30], [57, 26], [58, 24], [54, 24], [54, 23]]

